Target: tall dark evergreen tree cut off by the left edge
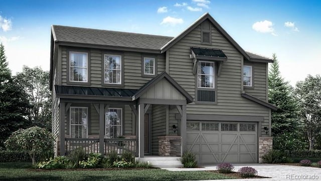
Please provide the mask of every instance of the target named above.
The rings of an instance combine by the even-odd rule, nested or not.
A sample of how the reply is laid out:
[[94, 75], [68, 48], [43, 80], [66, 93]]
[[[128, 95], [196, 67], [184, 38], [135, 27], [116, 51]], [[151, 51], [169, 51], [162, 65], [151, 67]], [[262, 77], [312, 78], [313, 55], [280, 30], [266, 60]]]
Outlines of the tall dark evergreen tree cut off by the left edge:
[[0, 149], [12, 132], [28, 126], [28, 106], [27, 95], [17, 79], [12, 78], [5, 47], [0, 44]]

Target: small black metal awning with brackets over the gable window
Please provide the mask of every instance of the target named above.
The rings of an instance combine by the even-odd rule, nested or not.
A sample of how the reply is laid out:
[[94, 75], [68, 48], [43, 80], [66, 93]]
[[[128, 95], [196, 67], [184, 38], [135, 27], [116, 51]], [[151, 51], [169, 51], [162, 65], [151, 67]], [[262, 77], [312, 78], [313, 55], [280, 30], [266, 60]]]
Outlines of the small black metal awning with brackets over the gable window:
[[217, 75], [220, 76], [222, 63], [227, 60], [227, 56], [220, 49], [191, 47], [190, 57], [193, 59], [193, 73], [196, 73], [198, 60], [217, 61]]

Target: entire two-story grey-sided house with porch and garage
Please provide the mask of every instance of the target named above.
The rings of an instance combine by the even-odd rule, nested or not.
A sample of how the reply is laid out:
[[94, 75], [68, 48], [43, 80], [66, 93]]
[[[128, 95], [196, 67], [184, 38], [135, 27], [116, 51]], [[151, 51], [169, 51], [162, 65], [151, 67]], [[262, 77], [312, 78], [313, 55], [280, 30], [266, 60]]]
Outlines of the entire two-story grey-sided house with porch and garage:
[[176, 37], [53, 25], [50, 61], [56, 155], [190, 150], [199, 163], [241, 163], [272, 146], [272, 60], [209, 13]]

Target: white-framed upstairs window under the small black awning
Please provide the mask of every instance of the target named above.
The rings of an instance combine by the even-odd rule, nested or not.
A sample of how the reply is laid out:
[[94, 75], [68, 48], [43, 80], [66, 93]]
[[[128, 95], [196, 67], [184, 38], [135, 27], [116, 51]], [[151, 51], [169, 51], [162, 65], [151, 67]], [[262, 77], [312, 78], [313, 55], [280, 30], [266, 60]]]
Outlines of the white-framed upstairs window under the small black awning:
[[198, 87], [214, 88], [214, 62], [199, 61], [197, 76]]

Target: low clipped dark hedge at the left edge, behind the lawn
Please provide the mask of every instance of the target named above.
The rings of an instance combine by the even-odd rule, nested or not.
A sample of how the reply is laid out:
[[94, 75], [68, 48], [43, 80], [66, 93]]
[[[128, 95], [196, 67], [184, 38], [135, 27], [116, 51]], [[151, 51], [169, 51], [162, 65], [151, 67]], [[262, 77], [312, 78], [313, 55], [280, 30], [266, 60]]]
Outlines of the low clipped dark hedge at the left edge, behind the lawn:
[[0, 162], [30, 161], [26, 151], [0, 150]]

